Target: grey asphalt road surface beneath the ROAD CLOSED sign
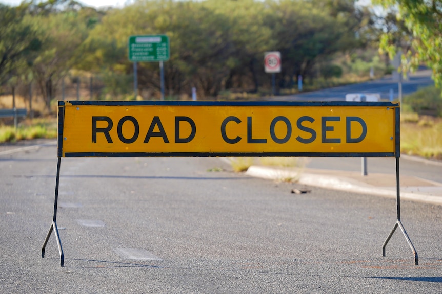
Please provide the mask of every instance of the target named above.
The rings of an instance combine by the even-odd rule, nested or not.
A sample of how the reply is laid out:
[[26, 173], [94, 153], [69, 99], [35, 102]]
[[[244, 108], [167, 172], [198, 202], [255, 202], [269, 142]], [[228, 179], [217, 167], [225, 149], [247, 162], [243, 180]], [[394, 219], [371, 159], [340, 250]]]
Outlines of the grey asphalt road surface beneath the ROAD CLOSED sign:
[[[233, 173], [216, 158], [0, 154], [2, 293], [437, 293], [442, 207]], [[302, 188], [302, 187], [298, 187]]]

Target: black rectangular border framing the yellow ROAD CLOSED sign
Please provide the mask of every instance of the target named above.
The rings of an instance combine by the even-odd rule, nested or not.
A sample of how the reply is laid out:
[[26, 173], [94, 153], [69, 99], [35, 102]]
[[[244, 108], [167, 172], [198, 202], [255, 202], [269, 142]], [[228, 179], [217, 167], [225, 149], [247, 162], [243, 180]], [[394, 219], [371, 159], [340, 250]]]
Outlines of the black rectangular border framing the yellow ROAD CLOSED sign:
[[[395, 152], [69, 152], [63, 156], [64, 106], [384, 106], [396, 107]], [[58, 157], [400, 157], [398, 104], [391, 102], [299, 101], [58, 101]]]

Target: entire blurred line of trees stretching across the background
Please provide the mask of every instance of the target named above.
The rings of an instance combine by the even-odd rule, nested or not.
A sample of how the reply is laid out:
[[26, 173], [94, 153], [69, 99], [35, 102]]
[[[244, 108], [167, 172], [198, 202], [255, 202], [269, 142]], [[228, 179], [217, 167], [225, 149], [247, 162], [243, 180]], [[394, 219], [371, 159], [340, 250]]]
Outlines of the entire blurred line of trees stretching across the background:
[[[280, 93], [297, 91], [298, 76], [313, 88], [388, 73], [390, 60], [378, 54], [379, 44], [390, 53], [410, 50], [414, 55], [406, 57], [433, 66], [437, 78], [440, 5], [426, 3], [426, 14], [420, 6], [398, 7], [403, 17], [397, 19], [394, 10], [379, 16], [353, 0], [135, 0], [105, 10], [74, 0], [27, 0], [0, 6], [0, 86], [13, 76], [31, 77], [48, 110], [66, 77], [77, 85], [94, 78], [101, 84], [94, 96], [91, 85], [94, 99], [133, 99], [128, 38], [156, 34], [170, 39], [164, 70], [171, 99], [190, 95], [193, 87], [203, 99], [269, 94], [266, 51], [281, 52], [282, 72], [275, 75]], [[433, 29], [427, 34], [426, 27]], [[159, 98], [159, 74], [157, 62], [138, 63], [138, 98]]]

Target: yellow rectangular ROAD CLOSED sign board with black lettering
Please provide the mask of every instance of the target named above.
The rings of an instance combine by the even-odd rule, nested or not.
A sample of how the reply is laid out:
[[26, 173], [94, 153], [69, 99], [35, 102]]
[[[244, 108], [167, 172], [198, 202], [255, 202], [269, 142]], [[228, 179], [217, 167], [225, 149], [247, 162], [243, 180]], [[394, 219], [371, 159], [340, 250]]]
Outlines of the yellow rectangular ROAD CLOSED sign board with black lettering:
[[390, 102], [59, 101], [58, 157], [399, 156]]

